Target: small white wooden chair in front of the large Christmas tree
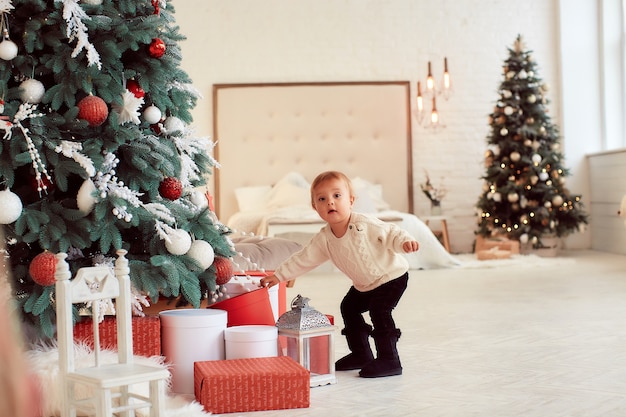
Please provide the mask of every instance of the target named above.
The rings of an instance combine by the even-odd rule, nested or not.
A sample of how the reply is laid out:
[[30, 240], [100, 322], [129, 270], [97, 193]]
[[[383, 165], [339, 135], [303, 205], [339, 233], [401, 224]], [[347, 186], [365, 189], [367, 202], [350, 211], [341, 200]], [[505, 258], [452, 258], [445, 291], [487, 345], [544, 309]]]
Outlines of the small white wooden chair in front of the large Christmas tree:
[[[60, 383], [63, 384], [63, 417], [75, 417], [85, 412], [97, 417], [115, 415], [131, 417], [135, 410], [149, 408], [151, 417], [164, 415], [167, 369], [133, 363], [130, 278], [125, 250], [117, 251], [115, 272], [106, 266], [85, 267], [70, 280], [71, 273], [65, 258], [59, 253], [56, 266], [56, 312], [59, 348]], [[118, 355], [117, 363], [101, 363], [98, 316], [100, 299], [115, 300]], [[92, 303], [94, 332], [94, 363], [77, 368], [74, 359], [74, 323], [72, 305]], [[149, 394], [132, 392], [133, 384], [148, 384]], [[77, 388], [84, 385], [86, 389]], [[136, 389], [136, 387], [134, 387]], [[77, 392], [87, 397], [76, 398]], [[145, 389], [144, 389], [145, 392]]]

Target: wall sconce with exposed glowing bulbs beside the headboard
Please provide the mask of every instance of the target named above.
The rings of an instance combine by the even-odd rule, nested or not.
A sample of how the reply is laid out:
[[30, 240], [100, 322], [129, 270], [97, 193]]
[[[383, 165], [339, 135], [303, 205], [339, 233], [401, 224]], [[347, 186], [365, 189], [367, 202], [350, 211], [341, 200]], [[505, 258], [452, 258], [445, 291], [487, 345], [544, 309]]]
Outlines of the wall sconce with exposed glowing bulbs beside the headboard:
[[[415, 102], [414, 115], [417, 122], [425, 127], [438, 130], [444, 128], [439, 118], [437, 110], [437, 95], [443, 96], [447, 100], [452, 94], [452, 83], [450, 72], [448, 71], [448, 58], [443, 59], [443, 76], [441, 78], [441, 88], [437, 89], [435, 77], [433, 77], [432, 64], [428, 61], [428, 75], [426, 76], [425, 90], [422, 91], [422, 82], [417, 82], [417, 97]], [[426, 111], [425, 102], [430, 102], [430, 111]]]

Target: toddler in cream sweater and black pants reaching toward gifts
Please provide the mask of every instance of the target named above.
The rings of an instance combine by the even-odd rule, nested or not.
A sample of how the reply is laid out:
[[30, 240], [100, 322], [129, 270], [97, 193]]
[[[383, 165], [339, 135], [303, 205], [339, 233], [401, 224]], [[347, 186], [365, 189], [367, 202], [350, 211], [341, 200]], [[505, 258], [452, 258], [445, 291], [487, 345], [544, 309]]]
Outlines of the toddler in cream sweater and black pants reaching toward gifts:
[[[350, 354], [335, 364], [337, 371], [360, 369], [365, 378], [401, 375], [397, 341], [400, 329], [391, 315], [406, 290], [409, 265], [400, 252], [414, 252], [419, 244], [406, 231], [376, 217], [353, 213], [354, 192], [341, 172], [319, 174], [311, 184], [311, 204], [326, 221], [311, 241], [283, 262], [274, 275], [261, 279], [271, 287], [310, 271], [327, 260], [352, 280], [341, 302], [341, 316]], [[369, 311], [372, 326], [363, 313]], [[369, 344], [376, 345], [374, 359]]]

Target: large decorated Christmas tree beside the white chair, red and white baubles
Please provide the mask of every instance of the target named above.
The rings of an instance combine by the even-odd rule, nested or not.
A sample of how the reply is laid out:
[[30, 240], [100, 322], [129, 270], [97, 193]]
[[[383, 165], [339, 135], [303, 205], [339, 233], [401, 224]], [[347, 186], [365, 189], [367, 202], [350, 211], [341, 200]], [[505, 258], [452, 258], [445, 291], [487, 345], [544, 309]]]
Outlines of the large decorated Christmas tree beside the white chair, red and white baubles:
[[[72, 269], [128, 251], [137, 304], [199, 306], [229, 230], [197, 191], [216, 167], [196, 137], [165, 0], [0, 0], [0, 223], [24, 318], [54, 333], [54, 254]], [[215, 262], [214, 262], [215, 260]]]

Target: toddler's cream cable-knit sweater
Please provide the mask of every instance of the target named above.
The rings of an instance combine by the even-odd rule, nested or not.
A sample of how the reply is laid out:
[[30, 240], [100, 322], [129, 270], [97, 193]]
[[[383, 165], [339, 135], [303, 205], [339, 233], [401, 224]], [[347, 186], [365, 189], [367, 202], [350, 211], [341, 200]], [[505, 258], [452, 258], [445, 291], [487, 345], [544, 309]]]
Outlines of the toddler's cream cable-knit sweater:
[[330, 227], [324, 226], [274, 274], [281, 281], [288, 281], [330, 259], [352, 280], [354, 288], [370, 291], [409, 270], [409, 263], [400, 253], [402, 245], [413, 240], [408, 232], [393, 223], [352, 213], [348, 230], [342, 237], [335, 237]]

